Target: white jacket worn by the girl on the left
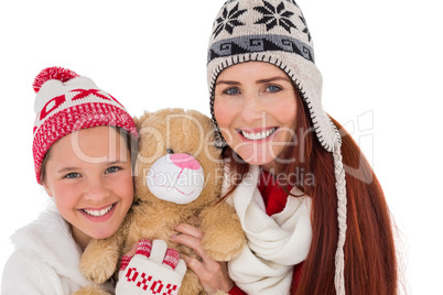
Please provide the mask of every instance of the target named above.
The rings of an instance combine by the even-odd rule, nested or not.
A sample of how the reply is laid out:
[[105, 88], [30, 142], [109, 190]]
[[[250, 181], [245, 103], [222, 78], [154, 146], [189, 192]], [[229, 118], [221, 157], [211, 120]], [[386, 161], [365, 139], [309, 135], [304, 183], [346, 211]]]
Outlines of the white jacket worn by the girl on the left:
[[91, 285], [78, 270], [82, 251], [54, 205], [11, 239], [15, 251], [3, 270], [2, 295], [67, 295]]

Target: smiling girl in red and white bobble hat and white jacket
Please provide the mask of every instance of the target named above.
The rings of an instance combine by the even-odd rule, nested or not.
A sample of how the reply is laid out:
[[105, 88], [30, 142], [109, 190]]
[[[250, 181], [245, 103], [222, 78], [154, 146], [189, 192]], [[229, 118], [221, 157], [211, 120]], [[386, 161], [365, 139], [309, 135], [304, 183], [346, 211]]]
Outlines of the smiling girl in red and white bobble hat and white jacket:
[[[73, 294], [90, 285], [78, 270], [83, 250], [91, 239], [112, 236], [132, 205], [138, 132], [120, 102], [72, 70], [42, 70], [34, 90], [35, 174], [55, 206], [12, 237], [17, 250], [4, 266], [1, 294]], [[151, 247], [164, 256], [162, 241], [143, 240], [138, 249], [149, 256]], [[126, 258], [123, 267], [145, 272], [147, 260], [137, 258]], [[183, 266], [177, 269], [183, 276]], [[102, 285], [111, 293], [114, 287], [110, 281]], [[119, 281], [117, 289], [139, 292], [128, 280]]]

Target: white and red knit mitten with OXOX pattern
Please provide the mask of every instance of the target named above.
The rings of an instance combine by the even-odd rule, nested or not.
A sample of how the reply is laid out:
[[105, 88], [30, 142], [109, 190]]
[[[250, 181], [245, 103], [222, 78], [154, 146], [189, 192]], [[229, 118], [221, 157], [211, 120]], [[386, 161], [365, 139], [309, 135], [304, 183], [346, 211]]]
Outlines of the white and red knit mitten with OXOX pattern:
[[121, 259], [116, 294], [179, 294], [185, 272], [185, 262], [165, 241], [141, 240], [133, 258]]

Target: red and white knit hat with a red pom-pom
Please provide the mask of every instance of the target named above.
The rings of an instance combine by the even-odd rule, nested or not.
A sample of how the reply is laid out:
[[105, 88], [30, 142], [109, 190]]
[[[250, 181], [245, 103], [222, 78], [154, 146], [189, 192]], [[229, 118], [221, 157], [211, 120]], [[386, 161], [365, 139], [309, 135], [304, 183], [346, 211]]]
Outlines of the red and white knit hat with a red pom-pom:
[[36, 76], [33, 87], [36, 118], [32, 152], [39, 184], [46, 152], [57, 140], [74, 131], [115, 125], [139, 136], [125, 107], [87, 77], [66, 68], [48, 67]]

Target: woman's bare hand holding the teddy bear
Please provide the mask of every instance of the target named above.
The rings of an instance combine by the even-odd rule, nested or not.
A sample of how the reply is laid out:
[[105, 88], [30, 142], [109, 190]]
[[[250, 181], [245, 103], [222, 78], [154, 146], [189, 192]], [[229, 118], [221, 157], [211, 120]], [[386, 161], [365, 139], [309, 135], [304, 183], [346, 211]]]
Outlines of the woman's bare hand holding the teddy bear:
[[207, 256], [202, 248], [203, 232], [196, 227], [186, 223], [180, 223], [175, 230], [179, 234], [171, 237], [171, 241], [193, 249], [201, 258], [198, 260], [181, 254], [186, 265], [198, 276], [205, 292], [208, 294], [217, 291], [228, 293], [234, 287], [234, 282], [228, 275], [228, 267], [225, 262], [217, 262]]

